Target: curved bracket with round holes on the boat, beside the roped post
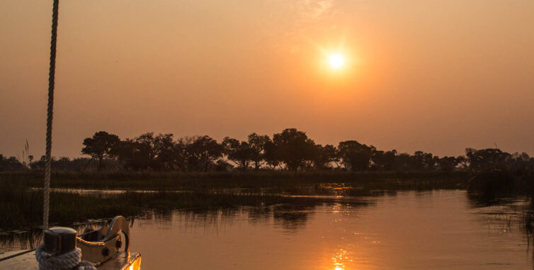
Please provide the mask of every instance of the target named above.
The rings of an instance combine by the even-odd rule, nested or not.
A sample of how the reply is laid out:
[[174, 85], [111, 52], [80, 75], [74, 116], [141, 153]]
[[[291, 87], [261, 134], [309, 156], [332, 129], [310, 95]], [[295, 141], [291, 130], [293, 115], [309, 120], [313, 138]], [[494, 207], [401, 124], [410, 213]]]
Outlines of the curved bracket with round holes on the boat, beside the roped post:
[[[120, 232], [123, 232], [125, 244], [120, 239]], [[100, 230], [84, 230], [76, 237], [76, 242], [81, 249], [81, 259], [98, 266], [117, 256], [123, 246], [125, 252], [130, 251], [130, 227], [126, 218], [118, 215], [109, 226], [104, 223]]]

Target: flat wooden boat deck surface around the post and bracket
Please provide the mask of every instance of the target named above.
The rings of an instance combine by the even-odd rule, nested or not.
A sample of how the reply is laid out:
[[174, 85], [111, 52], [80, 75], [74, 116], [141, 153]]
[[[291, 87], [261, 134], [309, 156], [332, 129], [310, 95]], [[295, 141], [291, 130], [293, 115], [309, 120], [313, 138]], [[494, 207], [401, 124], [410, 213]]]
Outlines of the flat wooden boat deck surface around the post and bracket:
[[[141, 254], [139, 252], [120, 252], [117, 257], [98, 266], [98, 270], [123, 270], [130, 269], [130, 266], [133, 266], [131, 269], [139, 269], [140, 263]], [[39, 269], [35, 260], [35, 250], [18, 250], [0, 254], [0, 269]]]

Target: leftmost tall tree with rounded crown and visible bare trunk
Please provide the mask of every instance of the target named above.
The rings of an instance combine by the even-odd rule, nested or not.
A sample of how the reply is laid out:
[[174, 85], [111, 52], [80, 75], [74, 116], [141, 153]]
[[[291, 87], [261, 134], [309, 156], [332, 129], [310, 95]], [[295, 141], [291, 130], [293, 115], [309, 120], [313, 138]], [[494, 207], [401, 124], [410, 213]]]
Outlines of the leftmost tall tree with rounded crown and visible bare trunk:
[[101, 170], [104, 157], [113, 157], [117, 154], [119, 144], [120, 140], [117, 135], [99, 131], [93, 137], [85, 138], [85, 147], [81, 149], [81, 153], [89, 154], [92, 159], [98, 159], [97, 169]]

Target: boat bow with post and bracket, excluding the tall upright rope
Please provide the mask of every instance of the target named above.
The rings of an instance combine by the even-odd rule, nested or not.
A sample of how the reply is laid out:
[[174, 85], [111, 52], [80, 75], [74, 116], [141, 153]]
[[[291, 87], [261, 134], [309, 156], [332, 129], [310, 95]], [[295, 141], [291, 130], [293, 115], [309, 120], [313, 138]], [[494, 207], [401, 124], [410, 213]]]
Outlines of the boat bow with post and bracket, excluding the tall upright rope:
[[[58, 269], [41, 266], [42, 261], [38, 259], [45, 256], [48, 256], [45, 258], [48, 260], [59, 258], [57, 264], [84, 266], [86, 270], [141, 269], [141, 254], [130, 252], [130, 227], [126, 218], [118, 215], [110, 225], [104, 223], [98, 230], [90, 227], [88, 223], [80, 235], [76, 235], [76, 230], [69, 227], [52, 227], [45, 231], [44, 242], [37, 249], [0, 254], [0, 269]], [[75, 259], [63, 264], [61, 257]], [[62, 269], [72, 269], [72, 266]]]

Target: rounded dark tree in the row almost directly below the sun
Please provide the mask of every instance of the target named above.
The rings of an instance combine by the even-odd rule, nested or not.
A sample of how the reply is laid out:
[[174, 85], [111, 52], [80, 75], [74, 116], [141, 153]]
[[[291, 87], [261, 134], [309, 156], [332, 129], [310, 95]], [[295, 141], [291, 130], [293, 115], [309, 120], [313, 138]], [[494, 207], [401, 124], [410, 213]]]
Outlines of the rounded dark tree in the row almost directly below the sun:
[[[373, 147], [374, 148], [374, 147]], [[372, 148], [362, 145], [356, 140], [339, 142], [339, 156], [343, 160], [343, 165], [352, 171], [363, 171], [369, 169]]]

